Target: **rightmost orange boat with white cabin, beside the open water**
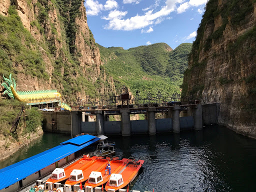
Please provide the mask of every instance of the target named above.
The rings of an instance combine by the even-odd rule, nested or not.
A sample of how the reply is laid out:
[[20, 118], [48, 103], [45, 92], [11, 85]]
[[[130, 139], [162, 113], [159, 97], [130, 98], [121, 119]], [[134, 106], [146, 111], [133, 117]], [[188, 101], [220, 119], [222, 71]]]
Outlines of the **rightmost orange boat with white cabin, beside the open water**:
[[105, 185], [105, 190], [116, 191], [120, 188], [125, 187], [127, 184], [132, 182], [138, 174], [138, 170], [144, 163], [144, 160], [134, 161], [134, 159], [129, 158], [128, 163], [123, 166], [117, 174], [111, 174], [109, 180]]

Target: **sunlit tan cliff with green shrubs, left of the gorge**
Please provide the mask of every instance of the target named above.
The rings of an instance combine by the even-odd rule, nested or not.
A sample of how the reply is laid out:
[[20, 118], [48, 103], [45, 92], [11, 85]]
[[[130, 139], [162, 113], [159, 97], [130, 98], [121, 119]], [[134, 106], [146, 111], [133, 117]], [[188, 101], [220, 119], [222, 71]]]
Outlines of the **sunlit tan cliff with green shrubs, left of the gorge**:
[[3, 0], [0, 21], [0, 73], [14, 73], [17, 90], [56, 88], [73, 101], [115, 92], [82, 0]]

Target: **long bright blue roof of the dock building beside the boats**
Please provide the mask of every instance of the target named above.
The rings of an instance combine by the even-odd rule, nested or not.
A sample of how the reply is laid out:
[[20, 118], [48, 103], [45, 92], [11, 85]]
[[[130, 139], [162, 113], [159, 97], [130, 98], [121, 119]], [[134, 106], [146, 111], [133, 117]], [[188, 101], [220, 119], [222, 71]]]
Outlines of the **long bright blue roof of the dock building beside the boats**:
[[69, 139], [60, 145], [0, 169], [0, 190], [72, 154], [100, 138], [89, 134]]

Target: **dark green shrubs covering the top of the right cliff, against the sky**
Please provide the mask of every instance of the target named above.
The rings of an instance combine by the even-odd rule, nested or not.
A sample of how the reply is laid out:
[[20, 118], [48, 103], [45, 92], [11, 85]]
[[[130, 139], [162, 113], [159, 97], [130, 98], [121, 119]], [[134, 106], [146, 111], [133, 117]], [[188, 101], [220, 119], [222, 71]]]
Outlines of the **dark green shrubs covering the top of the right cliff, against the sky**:
[[[206, 51], [209, 50], [211, 47], [211, 42], [219, 40], [222, 37], [223, 31], [228, 22], [231, 27], [246, 23], [249, 19], [249, 17], [246, 17], [246, 15], [249, 15], [249, 13], [253, 11], [253, 3], [255, 3], [255, 1], [230, 0], [223, 3], [223, 6], [218, 7], [218, 1], [209, 0], [206, 4], [201, 23], [197, 29], [196, 39], [192, 45], [190, 56], [193, 61], [195, 63], [198, 62], [199, 52], [202, 50], [202, 48], [205, 48]], [[205, 26], [214, 24], [214, 18], [216, 18], [218, 15], [221, 16], [221, 26], [219, 26], [217, 30], [212, 31], [206, 41], [203, 42], [202, 38], [205, 31]]]

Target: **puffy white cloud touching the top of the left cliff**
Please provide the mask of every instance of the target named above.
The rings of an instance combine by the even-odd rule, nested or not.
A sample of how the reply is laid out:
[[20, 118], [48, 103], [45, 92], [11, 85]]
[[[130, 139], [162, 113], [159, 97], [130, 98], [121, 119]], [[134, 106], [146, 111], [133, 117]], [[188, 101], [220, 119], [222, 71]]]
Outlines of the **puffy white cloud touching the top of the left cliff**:
[[86, 0], [84, 2], [84, 6], [87, 9], [87, 15], [98, 15], [101, 10], [111, 10], [113, 8], [117, 8], [118, 4], [115, 0], [107, 0], [104, 5], [99, 3], [97, 0]]

